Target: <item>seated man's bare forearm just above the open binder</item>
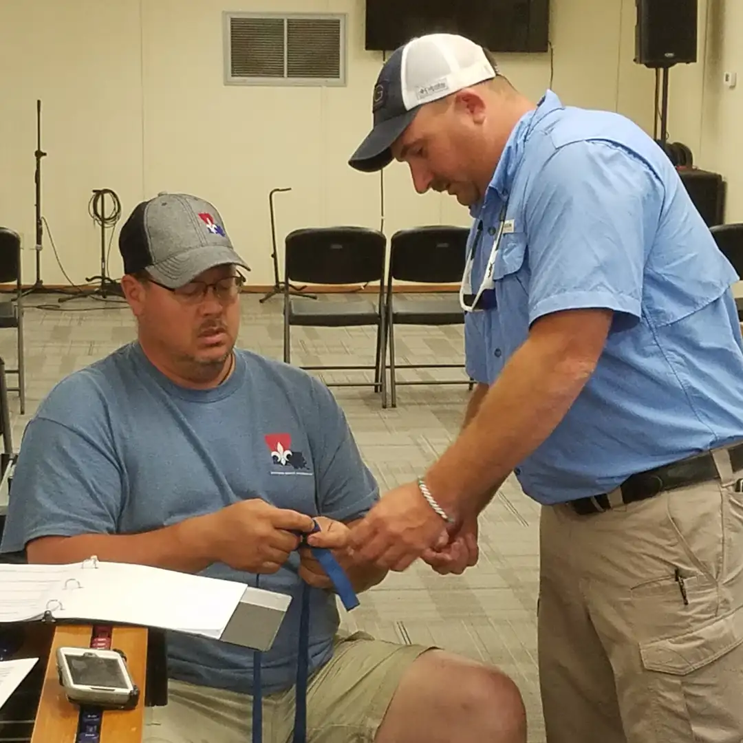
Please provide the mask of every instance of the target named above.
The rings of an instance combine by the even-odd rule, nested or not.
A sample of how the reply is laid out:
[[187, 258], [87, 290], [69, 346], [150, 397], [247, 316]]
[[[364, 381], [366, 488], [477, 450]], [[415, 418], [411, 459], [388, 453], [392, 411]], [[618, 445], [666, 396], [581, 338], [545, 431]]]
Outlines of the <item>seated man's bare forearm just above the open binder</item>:
[[210, 554], [210, 517], [139, 534], [42, 536], [26, 548], [29, 562], [65, 564], [95, 555], [106, 562], [132, 562], [184, 573], [198, 573], [215, 562]]

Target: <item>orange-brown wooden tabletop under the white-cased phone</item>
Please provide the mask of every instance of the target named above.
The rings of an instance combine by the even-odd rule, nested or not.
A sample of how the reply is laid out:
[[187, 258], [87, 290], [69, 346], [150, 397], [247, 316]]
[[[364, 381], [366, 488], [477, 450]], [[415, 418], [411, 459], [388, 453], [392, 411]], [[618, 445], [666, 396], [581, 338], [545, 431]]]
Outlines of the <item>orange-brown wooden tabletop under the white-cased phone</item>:
[[[50, 629], [52, 632], [50, 632]], [[29, 626], [27, 642], [19, 658], [39, 658], [46, 669], [39, 707], [30, 743], [75, 743], [80, 708], [71, 704], [59, 684], [56, 649], [61, 646], [90, 646], [90, 625], [60, 624]], [[103, 713], [100, 743], [141, 743], [144, 727], [148, 631], [140, 627], [114, 626], [111, 648], [124, 652], [140, 697], [133, 710], [107, 710]], [[0, 736], [0, 741], [1, 741]]]

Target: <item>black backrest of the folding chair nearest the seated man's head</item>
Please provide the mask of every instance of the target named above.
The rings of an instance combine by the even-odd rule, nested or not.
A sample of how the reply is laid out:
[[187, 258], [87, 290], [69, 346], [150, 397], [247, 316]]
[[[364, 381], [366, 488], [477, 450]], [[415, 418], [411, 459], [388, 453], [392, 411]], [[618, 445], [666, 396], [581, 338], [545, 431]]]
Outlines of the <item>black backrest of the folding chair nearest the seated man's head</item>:
[[366, 227], [306, 227], [286, 237], [287, 281], [366, 284], [384, 276], [387, 239]]

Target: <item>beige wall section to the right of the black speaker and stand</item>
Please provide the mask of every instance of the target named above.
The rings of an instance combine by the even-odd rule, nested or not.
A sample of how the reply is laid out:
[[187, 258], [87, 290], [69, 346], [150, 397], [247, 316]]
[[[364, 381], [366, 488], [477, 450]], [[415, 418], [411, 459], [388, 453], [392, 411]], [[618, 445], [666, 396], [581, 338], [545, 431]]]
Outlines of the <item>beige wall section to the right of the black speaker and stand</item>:
[[[743, 1], [700, 0], [698, 30], [698, 62], [669, 73], [669, 139], [724, 176], [726, 221], [743, 221]], [[726, 71], [737, 73], [735, 88]]]

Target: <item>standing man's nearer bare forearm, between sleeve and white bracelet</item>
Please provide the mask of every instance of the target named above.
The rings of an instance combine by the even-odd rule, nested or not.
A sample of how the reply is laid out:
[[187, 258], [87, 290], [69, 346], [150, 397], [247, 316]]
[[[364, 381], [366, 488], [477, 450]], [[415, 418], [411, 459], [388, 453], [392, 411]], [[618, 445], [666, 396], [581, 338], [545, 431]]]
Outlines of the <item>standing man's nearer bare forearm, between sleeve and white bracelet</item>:
[[570, 351], [542, 336], [530, 337], [513, 354], [473, 420], [426, 473], [444, 510], [460, 518], [473, 513], [481, 494], [497, 487], [559, 424], [596, 363]]

